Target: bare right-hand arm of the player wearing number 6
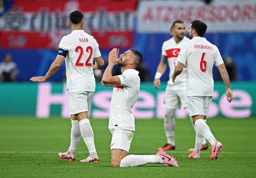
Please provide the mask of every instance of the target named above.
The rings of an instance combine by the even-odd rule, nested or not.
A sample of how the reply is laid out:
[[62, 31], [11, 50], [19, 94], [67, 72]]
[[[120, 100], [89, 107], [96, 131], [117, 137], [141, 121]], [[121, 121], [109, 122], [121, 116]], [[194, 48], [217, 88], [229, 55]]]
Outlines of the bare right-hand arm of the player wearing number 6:
[[219, 72], [221, 73], [221, 78], [226, 85], [226, 96], [227, 96], [228, 102], [230, 103], [233, 100], [233, 94], [230, 86], [228, 71], [226, 70], [226, 67], [224, 64], [220, 64], [217, 67], [219, 69]]

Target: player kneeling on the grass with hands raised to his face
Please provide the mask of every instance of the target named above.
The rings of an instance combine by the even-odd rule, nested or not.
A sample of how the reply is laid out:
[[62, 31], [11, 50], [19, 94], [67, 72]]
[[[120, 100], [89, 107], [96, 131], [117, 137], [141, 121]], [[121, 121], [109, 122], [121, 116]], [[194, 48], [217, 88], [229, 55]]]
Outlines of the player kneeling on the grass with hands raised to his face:
[[[179, 167], [174, 157], [163, 150], [156, 155], [127, 155], [135, 131], [132, 107], [140, 91], [140, 78], [135, 68], [142, 60], [142, 54], [130, 49], [118, 58], [119, 50], [109, 52], [109, 64], [103, 74], [102, 84], [114, 86], [110, 105], [109, 130], [112, 133], [111, 164], [113, 167], [137, 167], [147, 163]], [[122, 75], [112, 76], [114, 65], [121, 67]]]

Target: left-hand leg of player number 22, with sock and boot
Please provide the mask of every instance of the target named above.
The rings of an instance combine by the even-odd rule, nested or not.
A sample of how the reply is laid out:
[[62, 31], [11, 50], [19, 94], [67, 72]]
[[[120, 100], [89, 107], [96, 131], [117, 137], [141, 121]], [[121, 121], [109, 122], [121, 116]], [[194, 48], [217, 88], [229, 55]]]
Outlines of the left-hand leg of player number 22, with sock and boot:
[[72, 124], [72, 127], [70, 132], [70, 146], [68, 148], [68, 151], [64, 153], [61, 153], [61, 152], [58, 153], [58, 156], [61, 159], [65, 159], [68, 161], [75, 160], [75, 151], [77, 149], [77, 145], [81, 137], [79, 123], [75, 115], [71, 115], [71, 124]]

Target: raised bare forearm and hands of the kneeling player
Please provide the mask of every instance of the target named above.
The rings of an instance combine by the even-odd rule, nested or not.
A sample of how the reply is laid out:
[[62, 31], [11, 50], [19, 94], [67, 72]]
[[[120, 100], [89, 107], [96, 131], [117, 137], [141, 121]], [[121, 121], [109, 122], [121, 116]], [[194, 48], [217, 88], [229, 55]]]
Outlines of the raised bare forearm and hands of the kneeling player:
[[118, 76], [112, 76], [112, 70], [114, 65], [118, 64], [119, 60], [121, 59], [121, 57], [119, 59], [117, 59], [119, 50], [116, 50], [116, 48], [112, 49], [109, 52], [109, 64], [106, 68], [106, 70], [104, 71], [102, 80], [101, 80], [101, 84], [103, 86], [109, 86], [109, 85], [121, 85], [121, 80]]

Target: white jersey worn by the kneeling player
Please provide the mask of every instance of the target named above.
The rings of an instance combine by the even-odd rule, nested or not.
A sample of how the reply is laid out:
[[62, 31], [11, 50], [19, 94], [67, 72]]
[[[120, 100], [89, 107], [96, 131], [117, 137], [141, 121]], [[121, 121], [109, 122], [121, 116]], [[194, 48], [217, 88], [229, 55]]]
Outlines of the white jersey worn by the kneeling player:
[[134, 69], [118, 75], [121, 86], [115, 85], [110, 104], [109, 129], [122, 128], [135, 131], [132, 107], [139, 97], [140, 77]]

